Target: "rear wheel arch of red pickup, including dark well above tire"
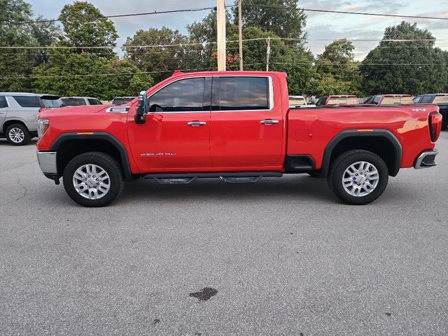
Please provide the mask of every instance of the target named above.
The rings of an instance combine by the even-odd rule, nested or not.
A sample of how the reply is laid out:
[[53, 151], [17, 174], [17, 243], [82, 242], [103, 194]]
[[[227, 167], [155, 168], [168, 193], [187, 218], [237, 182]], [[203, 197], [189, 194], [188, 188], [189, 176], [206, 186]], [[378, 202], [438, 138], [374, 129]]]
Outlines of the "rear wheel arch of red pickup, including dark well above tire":
[[388, 130], [369, 130], [368, 132], [345, 130], [338, 133], [325, 147], [321, 174], [327, 176], [332, 160], [344, 151], [353, 149], [363, 149], [379, 155], [386, 162], [389, 175], [398, 174], [401, 167], [402, 146], [397, 137]]

